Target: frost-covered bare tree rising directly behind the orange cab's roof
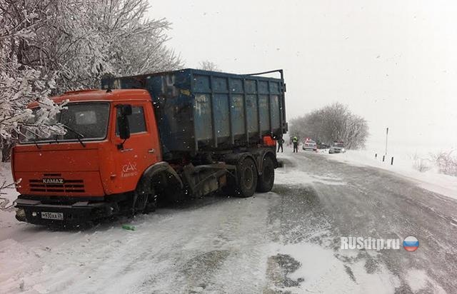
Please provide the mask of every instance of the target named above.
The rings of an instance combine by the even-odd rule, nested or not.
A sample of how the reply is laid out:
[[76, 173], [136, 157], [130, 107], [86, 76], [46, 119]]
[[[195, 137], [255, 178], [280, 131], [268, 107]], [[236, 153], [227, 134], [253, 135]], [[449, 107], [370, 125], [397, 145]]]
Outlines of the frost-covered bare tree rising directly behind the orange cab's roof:
[[105, 74], [134, 75], [177, 69], [179, 56], [166, 48], [165, 19], [146, 19], [146, 0], [55, 0], [40, 31], [47, 66], [63, 89], [96, 88]]

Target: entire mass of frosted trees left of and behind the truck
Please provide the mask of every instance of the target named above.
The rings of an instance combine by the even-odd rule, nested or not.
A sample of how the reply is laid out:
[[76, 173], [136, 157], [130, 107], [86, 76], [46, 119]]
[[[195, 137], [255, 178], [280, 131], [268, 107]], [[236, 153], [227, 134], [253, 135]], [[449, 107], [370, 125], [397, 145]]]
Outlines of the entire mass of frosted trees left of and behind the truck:
[[[21, 128], [59, 131], [49, 118], [63, 106], [50, 95], [97, 88], [101, 76], [177, 69], [165, 46], [170, 24], [146, 18], [147, 0], [0, 0], [0, 136]], [[26, 105], [44, 106], [34, 113]]]

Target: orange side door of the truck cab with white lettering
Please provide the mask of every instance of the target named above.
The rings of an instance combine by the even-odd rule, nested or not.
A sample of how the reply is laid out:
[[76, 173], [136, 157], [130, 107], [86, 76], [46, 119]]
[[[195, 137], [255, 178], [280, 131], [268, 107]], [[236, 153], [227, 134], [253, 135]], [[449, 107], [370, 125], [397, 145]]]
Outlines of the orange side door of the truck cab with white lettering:
[[[119, 103], [122, 104], [122, 103]], [[134, 191], [144, 170], [161, 160], [159, 136], [156, 129], [151, 103], [134, 102], [129, 116], [130, 138], [124, 142], [124, 148], [118, 148], [116, 154], [116, 181], [121, 191]], [[118, 108], [114, 113], [120, 115]], [[115, 120], [117, 121], [117, 119]], [[116, 145], [123, 142], [119, 138], [117, 123], [114, 140]]]

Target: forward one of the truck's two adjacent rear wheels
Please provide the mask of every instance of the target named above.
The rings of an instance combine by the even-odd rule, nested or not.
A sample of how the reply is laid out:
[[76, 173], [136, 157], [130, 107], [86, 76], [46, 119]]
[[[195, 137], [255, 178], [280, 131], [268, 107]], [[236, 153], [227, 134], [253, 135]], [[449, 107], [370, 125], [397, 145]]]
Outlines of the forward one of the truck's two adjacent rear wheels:
[[251, 197], [257, 187], [257, 168], [256, 163], [250, 157], [244, 158], [237, 164], [236, 174], [238, 176], [238, 193], [241, 198]]

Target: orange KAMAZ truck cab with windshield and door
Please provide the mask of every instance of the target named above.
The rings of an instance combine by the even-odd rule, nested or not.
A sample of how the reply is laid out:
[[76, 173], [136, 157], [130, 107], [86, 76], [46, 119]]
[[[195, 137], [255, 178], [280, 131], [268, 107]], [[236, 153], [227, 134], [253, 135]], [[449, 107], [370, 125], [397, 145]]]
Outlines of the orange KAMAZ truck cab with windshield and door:
[[[39, 138], [26, 131], [12, 151], [14, 180], [21, 179], [16, 187], [21, 193], [16, 206], [36, 208], [28, 210], [27, 220], [41, 220], [40, 208], [57, 220], [63, 214], [52, 212], [65, 206], [90, 213], [98, 203], [102, 210], [115, 211], [119, 208], [109, 201], [106, 205], [106, 197], [114, 200], [116, 195], [135, 191], [146, 168], [161, 161], [156, 118], [147, 91], [73, 91], [54, 98], [56, 103], [66, 100], [66, 109], [56, 117], [56, 122], [66, 126], [65, 135]], [[118, 125], [125, 105], [131, 106], [128, 139], [121, 138]], [[79, 216], [71, 210], [75, 220], [86, 218], [86, 213]]]

